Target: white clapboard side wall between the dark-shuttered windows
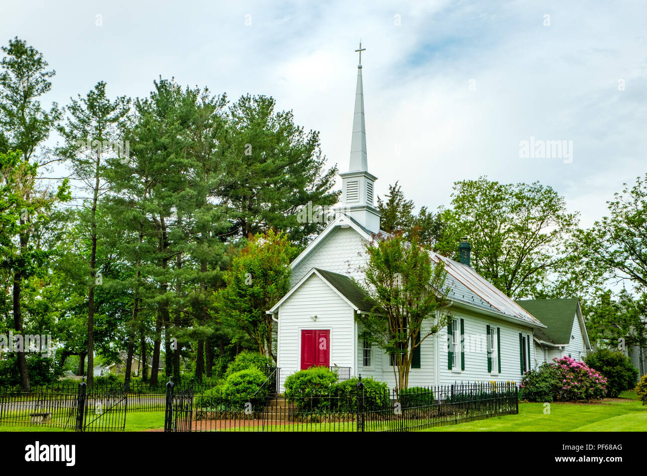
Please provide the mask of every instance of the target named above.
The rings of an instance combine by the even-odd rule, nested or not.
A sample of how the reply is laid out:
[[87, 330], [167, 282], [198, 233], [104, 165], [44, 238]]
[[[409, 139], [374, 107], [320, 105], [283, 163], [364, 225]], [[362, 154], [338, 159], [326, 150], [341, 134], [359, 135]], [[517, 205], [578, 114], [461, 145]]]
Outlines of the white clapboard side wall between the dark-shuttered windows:
[[[514, 381], [521, 383], [521, 363], [519, 350], [519, 334], [523, 334], [531, 342], [531, 365], [534, 363], [534, 345], [532, 345], [532, 329], [516, 325], [496, 318], [481, 317], [472, 313], [453, 312], [452, 317], [465, 320], [465, 370], [460, 370], [461, 359], [458, 359], [458, 369], [448, 368], [447, 328], [439, 332], [439, 370], [440, 384], [474, 382], [474, 381]], [[487, 371], [487, 324], [501, 330], [501, 373], [498, 365]], [[496, 337], [495, 337], [496, 339]]]

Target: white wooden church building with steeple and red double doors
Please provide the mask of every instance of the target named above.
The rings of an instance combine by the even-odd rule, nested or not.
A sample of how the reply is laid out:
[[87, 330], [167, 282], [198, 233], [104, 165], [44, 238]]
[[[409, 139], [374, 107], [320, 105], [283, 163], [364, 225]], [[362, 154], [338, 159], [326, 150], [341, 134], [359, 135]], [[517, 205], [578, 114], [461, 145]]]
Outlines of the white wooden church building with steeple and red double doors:
[[[292, 288], [268, 310], [275, 321], [281, 392], [287, 376], [313, 365], [397, 387], [390, 357], [361, 338], [355, 319], [369, 312], [371, 304], [351, 278], [363, 279], [365, 245], [380, 233], [380, 213], [373, 205], [377, 177], [369, 172], [366, 153], [361, 58], [350, 164], [340, 176], [342, 204], [336, 217], [292, 262]], [[543, 356], [535, 356], [533, 336], [547, 326], [479, 276], [470, 267], [469, 254], [466, 240], [461, 243], [461, 262], [432, 253], [433, 261], [443, 261], [447, 272], [450, 306], [444, 312], [450, 324], [415, 350], [410, 387], [461, 381], [521, 383], [523, 373], [543, 361]], [[423, 324], [423, 332], [430, 324]]]

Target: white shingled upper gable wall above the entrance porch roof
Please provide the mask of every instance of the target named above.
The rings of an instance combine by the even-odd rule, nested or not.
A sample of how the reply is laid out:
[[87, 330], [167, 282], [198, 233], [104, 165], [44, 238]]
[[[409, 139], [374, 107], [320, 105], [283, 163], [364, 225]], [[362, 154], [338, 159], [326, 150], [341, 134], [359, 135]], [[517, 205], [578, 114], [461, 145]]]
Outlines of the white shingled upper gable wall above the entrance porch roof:
[[308, 256], [292, 268], [291, 286], [299, 282], [313, 267], [357, 279], [363, 278], [359, 267], [365, 263], [365, 244], [366, 240], [352, 228], [334, 229]]

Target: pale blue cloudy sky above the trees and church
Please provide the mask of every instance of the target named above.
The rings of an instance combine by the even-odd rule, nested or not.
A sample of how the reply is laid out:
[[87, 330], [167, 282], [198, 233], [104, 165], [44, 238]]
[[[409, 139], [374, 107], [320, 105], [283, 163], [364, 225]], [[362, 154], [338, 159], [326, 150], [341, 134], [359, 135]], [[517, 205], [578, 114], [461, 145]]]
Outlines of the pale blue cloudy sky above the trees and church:
[[[146, 96], [160, 74], [274, 96], [344, 171], [361, 38], [378, 194], [399, 180], [435, 209], [457, 180], [538, 180], [588, 226], [646, 171], [646, 18], [644, 1], [21, 0], [0, 6], [0, 41], [27, 40], [56, 70], [44, 103], [99, 80]], [[520, 157], [531, 137], [572, 157]]]

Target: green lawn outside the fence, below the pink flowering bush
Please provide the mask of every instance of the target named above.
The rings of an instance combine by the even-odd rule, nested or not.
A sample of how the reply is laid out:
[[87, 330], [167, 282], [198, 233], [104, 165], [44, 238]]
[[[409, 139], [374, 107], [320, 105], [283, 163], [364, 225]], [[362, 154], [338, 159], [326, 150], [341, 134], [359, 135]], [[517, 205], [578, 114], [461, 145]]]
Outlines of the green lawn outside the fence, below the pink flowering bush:
[[519, 414], [478, 422], [436, 427], [426, 431], [645, 431], [647, 405], [635, 392], [622, 392], [621, 399], [603, 403], [519, 403]]

